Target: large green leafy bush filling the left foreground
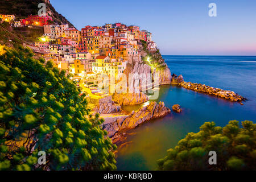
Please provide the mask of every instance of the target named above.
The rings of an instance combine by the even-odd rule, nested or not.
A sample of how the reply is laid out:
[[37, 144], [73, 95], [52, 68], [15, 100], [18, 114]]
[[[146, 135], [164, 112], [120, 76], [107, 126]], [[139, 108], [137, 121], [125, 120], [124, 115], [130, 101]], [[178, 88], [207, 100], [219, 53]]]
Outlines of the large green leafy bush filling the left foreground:
[[[116, 146], [65, 72], [30, 49], [0, 56], [0, 170], [116, 169]], [[46, 164], [37, 164], [38, 152]]]

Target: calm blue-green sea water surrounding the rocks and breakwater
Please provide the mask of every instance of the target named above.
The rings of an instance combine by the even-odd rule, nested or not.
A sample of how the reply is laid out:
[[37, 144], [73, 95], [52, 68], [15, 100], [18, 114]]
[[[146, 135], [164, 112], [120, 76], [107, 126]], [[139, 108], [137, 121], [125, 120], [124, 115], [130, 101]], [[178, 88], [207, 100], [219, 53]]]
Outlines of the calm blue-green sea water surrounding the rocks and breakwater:
[[[189, 132], [198, 132], [204, 122], [225, 126], [230, 120], [256, 122], [256, 56], [163, 56], [171, 73], [185, 81], [198, 82], [234, 92], [248, 101], [240, 105], [221, 98], [193, 92], [179, 86], [160, 86], [159, 98], [170, 107], [179, 104], [183, 111], [144, 123], [131, 132], [132, 143], [123, 147], [117, 158], [118, 170], [152, 170], [156, 160]], [[127, 110], [139, 106], [128, 106]]]

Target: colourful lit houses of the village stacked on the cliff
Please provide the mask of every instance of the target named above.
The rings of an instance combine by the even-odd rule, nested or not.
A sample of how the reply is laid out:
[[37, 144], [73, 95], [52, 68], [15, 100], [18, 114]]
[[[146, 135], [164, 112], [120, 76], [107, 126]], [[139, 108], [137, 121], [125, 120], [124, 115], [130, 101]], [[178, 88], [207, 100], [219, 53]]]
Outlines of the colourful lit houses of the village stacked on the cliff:
[[128, 63], [142, 60], [143, 43], [148, 52], [158, 51], [151, 32], [141, 31], [138, 26], [114, 23], [85, 26], [79, 31], [68, 24], [54, 24], [51, 16], [31, 15], [15, 20], [14, 15], [0, 15], [0, 18], [14, 27], [43, 27], [44, 34], [38, 41], [24, 46], [71, 73], [77, 86], [91, 98], [108, 96], [109, 90], [98, 89], [102, 75], [118, 80]]

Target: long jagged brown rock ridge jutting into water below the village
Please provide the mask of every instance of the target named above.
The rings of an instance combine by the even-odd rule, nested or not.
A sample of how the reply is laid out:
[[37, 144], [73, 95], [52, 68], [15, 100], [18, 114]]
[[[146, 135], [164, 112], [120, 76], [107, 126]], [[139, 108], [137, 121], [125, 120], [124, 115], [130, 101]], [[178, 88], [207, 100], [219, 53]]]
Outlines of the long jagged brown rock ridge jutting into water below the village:
[[143, 122], [150, 119], [164, 117], [171, 110], [164, 105], [164, 102], [150, 102], [149, 105], [141, 107], [138, 111], [133, 111], [130, 115], [105, 118], [102, 129], [108, 131], [108, 137], [112, 138], [113, 143], [124, 140], [123, 133], [134, 129]]

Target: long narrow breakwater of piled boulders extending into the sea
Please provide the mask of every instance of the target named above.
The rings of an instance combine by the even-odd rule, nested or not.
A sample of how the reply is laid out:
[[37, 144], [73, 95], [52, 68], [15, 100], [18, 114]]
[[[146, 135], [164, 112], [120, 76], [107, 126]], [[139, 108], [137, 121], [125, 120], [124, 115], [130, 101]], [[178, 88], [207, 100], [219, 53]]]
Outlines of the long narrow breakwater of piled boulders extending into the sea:
[[212, 96], [221, 97], [233, 102], [240, 102], [240, 101], [246, 100], [246, 98], [238, 95], [237, 93], [234, 93], [233, 91], [213, 88], [212, 86], [207, 86], [204, 84], [197, 84], [197, 83], [183, 81], [179, 83], [179, 85], [189, 90], [204, 92]]

